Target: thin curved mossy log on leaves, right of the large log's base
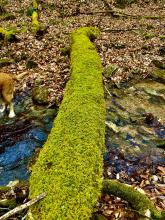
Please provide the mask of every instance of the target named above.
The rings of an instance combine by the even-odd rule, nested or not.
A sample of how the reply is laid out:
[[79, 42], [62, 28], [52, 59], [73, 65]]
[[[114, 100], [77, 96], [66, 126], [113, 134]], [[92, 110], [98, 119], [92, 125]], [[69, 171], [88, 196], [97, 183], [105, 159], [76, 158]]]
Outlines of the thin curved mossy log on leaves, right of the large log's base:
[[139, 191], [120, 183], [116, 180], [105, 180], [103, 182], [103, 193], [112, 194], [127, 201], [139, 214], [145, 216], [150, 210], [152, 219], [160, 220], [165, 218], [165, 213], [158, 211], [151, 200]]

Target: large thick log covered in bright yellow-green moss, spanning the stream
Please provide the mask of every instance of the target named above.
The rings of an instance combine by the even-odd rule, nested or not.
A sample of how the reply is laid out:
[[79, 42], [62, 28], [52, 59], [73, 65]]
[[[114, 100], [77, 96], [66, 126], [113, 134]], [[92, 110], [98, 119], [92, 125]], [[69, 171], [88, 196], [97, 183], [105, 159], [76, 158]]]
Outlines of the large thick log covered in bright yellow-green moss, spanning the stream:
[[47, 196], [31, 208], [34, 219], [87, 220], [102, 188], [105, 103], [102, 65], [90, 41], [95, 28], [71, 38], [71, 77], [48, 140], [32, 168], [30, 198]]

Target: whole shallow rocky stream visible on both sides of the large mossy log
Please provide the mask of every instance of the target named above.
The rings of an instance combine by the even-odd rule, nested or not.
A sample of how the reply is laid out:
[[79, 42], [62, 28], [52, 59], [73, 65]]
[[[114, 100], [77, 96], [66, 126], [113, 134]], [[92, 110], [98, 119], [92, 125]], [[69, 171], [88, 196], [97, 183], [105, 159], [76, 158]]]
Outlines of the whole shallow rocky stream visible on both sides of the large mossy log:
[[[165, 85], [145, 79], [120, 88], [110, 85], [106, 99], [104, 176], [125, 182], [138, 170], [165, 163]], [[29, 163], [52, 128], [57, 109], [35, 106], [30, 96], [14, 100], [16, 117], [0, 117], [0, 185], [28, 180]]]

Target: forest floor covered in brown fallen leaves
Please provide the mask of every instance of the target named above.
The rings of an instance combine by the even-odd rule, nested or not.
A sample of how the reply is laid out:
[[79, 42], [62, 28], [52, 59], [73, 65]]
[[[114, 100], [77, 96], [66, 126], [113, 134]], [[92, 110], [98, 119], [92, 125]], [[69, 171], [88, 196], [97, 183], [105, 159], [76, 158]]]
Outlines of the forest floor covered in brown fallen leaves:
[[[41, 79], [49, 90], [49, 104], [60, 105], [70, 76], [69, 58], [62, 55], [61, 49], [69, 45], [71, 32], [82, 26], [100, 28], [101, 34], [95, 44], [104, 70], [111, 64], [118, 67], [111, 77], [116, 85], [127, 82], [133, 73], [138, 73], [141, 79], [146, 78], [155, 68], [154, 60], [165, 61], [163, 1], [142, 1], [121, 9], [111, 0], [40, 0], [39, 21], [42, 26], [47, 27], [47, 31], [38, 39], [30, 31], [31, 2], [0, 0], [5, 11], [13, 15], [5, 18], [3, 13], [0, 14], [1, 27], [17, 29], [16, 35], [19, 39], [13, 43], [0, 41], [0, 59], [19, 60], [1, 67], [1, 71], [19, 74], [27, 71], [29, 61], [36, 64], [35, 68], [28, 69], [29, 74], [17, 85], [17, 93], [30, 91], [35, 80]], [[106, 84], [106, 78], [104, 81]], [[157, 172], [159, 177], [149, 175], [150, 171], [146, 170], [141, 186], [151, 177], [165, 181], [165, 169], [159, 166]], [[136, 183], [134, 185], [136, 187]], [[147, 190], [146, 194], [155, 201], [157, 208], [165, 209], [165, 197], [161, 196], [162, 185], [160, 184], [159, 190], [154, 187]], [[156, 194], [154, 190], [159, 192]], [[134, 211], [125, 213], [127, 203], [119, 198], [103, 196], [100, 207], [100, 213], [106, 219], [136, 219], [137, 213]]]

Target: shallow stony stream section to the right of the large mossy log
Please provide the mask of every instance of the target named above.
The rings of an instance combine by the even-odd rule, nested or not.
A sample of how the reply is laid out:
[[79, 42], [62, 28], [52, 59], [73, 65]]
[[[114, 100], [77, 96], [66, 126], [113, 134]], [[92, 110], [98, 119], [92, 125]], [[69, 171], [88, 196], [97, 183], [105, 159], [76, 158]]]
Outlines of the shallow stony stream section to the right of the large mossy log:
[[165, 164], [165, 84], [148, 78], [109, 91], [104, 176], [132, 184]]

